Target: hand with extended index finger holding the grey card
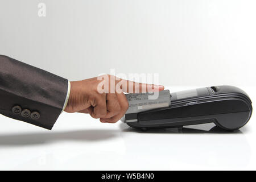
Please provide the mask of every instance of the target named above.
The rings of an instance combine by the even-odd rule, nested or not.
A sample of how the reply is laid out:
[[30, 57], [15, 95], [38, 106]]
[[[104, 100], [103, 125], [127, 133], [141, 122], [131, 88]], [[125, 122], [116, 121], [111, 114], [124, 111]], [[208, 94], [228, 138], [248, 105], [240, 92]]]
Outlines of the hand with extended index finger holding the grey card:
[[[131, 90], [133, 93], [136, 91], [141, 93], [143, 90], [148, 92], [148, 88], [157, 91], [164, 90], [164, 86], [139, 84], [120, 78], [117, 79], [111, 75], [105, 76], [109, 78], [109, 81], [113, 81], [114, 86], [117, 86], [120, 81], [125, 82], [127, 86], [133, 85]], [[110, 92], [110, 89], [106, 90], [106, 88], [104, 88], [105, 92], [100, 93], [98, 92], [98, 85], [101, 82], [102, 80], [98, 80], [97, 77], [81, 81], [72, 81], [71, 92], [65, 111], [68, 113], [89, 113], [93, 118], [100, 118], [101, 122], [115, 123], [119, 121], [119, 119], [125, 115], [129, 107], [126, 96], [123, 94], [123, 92], [127, 92], [127, 90], [121, 86], [121, 92], [114, 89], [113, 93]]]

